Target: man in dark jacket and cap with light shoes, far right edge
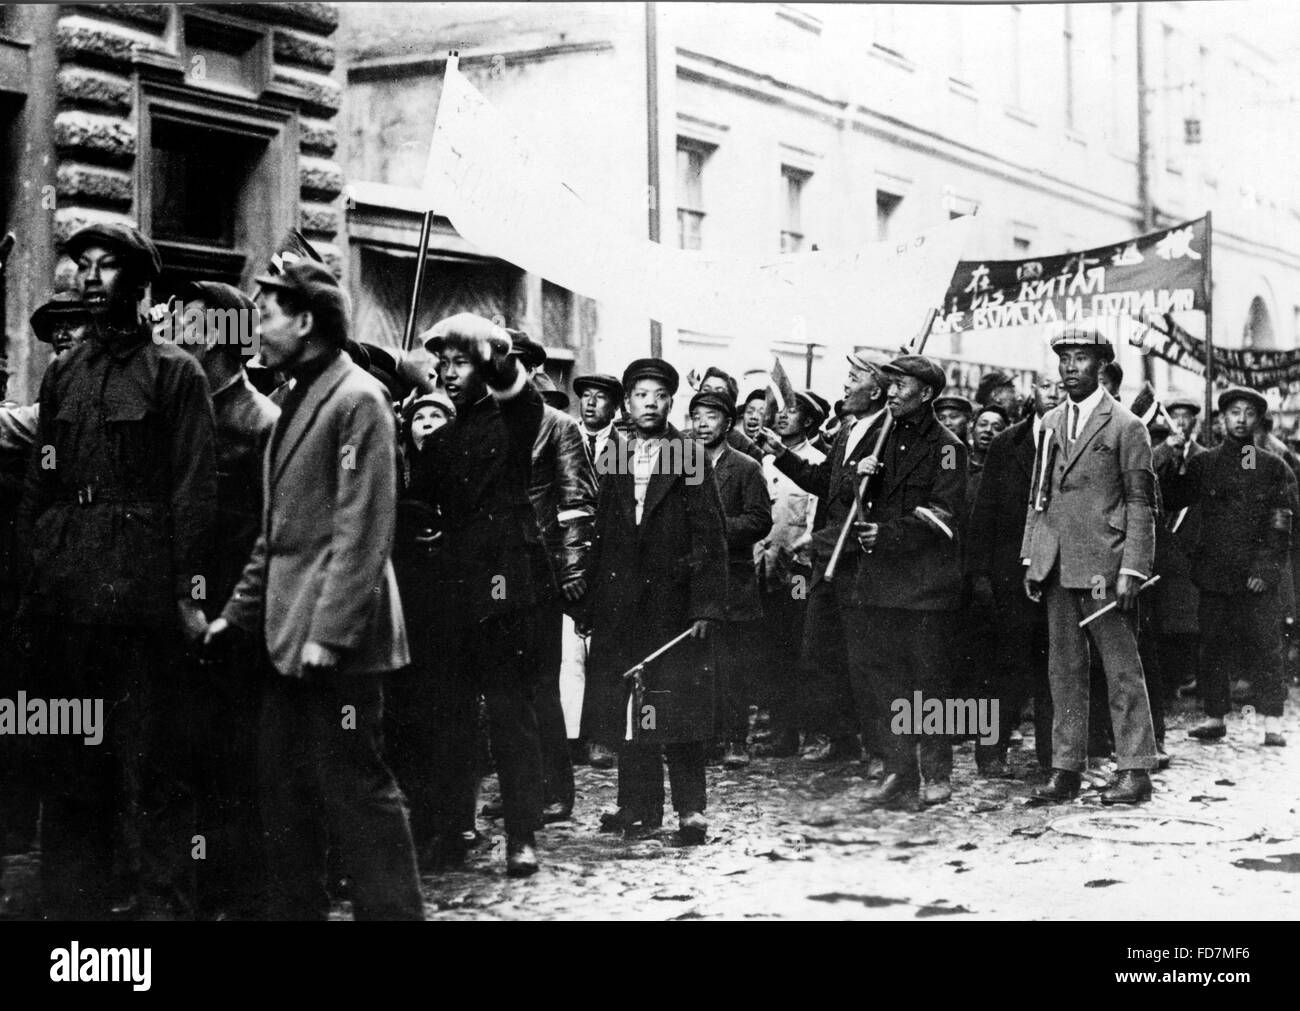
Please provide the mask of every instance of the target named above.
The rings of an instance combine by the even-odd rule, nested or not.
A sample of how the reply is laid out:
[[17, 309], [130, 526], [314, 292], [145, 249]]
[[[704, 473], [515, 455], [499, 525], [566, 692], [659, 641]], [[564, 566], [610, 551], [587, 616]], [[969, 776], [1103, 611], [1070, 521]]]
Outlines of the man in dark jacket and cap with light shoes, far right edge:
[[1188, 734], [1217, 741], [1227, 734], [1231, 672], [1252, 674], [1264, 743], [1284, 745], [1279, 582], [1291, 547], [1292, 503], [1286, 464], [1254, 444], [1269, 409], [1254, 390], [1219, 394], [1223, 442], [1188, 460], [1166, 461], [1161, 486], [1170, 509], [1199, 504], [1200, 535], [1191, 548], [1200, 590], [1200, 690], [1205, 720]]

